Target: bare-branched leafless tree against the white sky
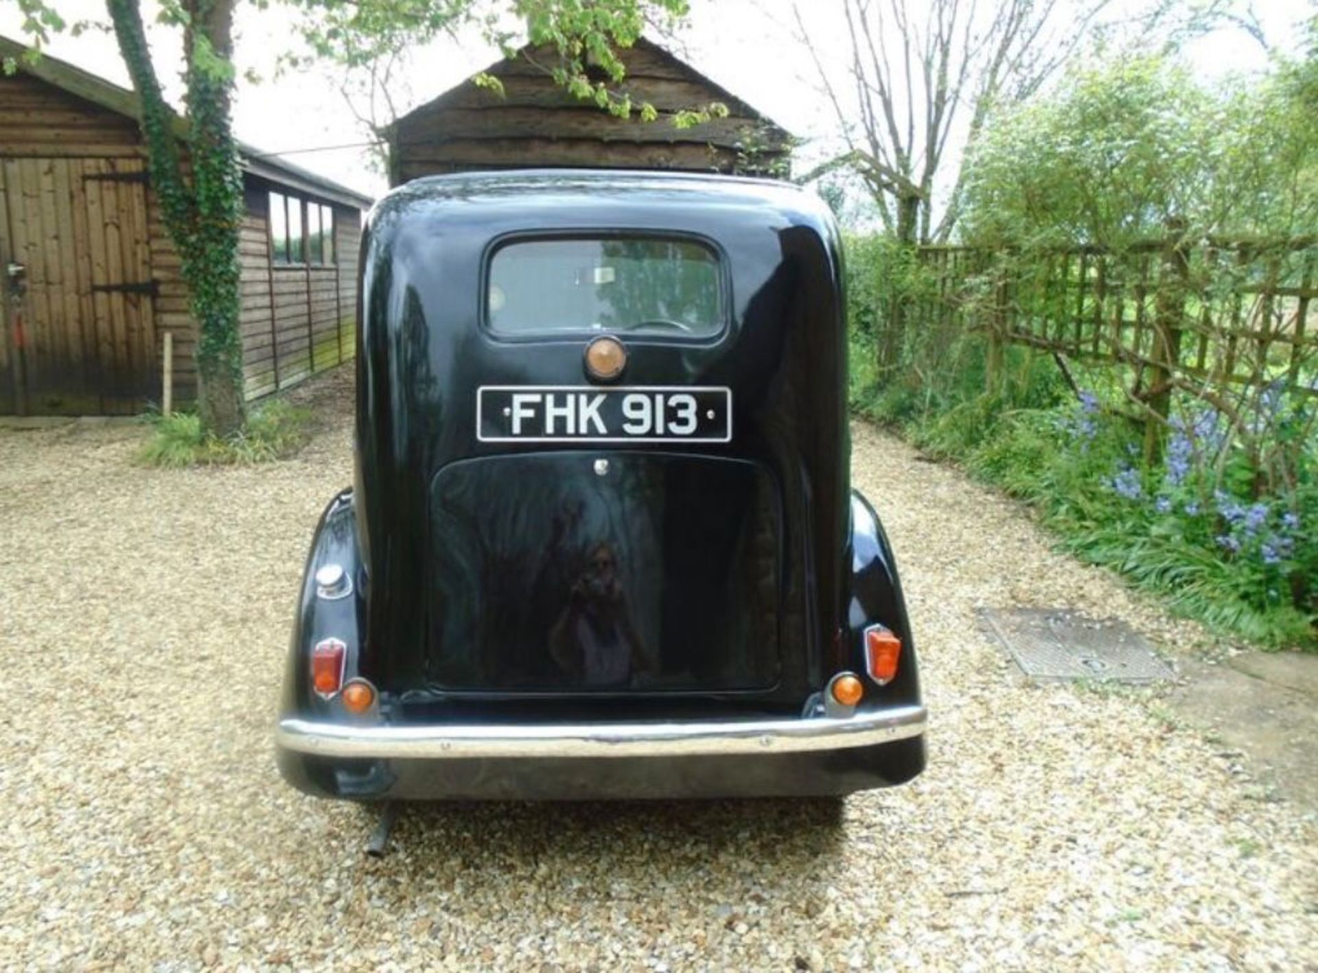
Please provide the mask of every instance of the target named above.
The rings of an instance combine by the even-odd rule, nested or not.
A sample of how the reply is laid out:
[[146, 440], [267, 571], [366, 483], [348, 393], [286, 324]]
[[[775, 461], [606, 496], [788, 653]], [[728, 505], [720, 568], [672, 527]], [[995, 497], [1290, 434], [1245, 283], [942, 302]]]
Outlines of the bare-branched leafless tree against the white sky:
[[904, 244], [945, 242], [962, 209], [961, 149], [978, 142], [990, 109], [1025, 101], [1083, 45], [1120, 32], [1174, 45], [1231, 20], [1259, 36], [1235, 3], [841, 0], [845, 42], [825, 51], [817, 14], [796, 0], [797, 38], [846, 144], [811, 176], [850, 167], [888, 233]]

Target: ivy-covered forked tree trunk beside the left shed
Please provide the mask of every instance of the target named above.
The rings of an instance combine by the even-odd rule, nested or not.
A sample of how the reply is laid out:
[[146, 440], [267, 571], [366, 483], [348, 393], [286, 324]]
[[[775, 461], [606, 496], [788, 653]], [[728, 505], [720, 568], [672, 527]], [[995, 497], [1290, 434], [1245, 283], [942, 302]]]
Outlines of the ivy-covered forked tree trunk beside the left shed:
[[[232, 0], [187, 0], [183, 53], [188, 124], [179, 130], [161, 93], [146, 46], [140, 0], [107, 0], [119, 50], [141, 105], [152, 188], [178, 250], [196, 319], [198, 406], [203, 428], [228, 436], [243, 428], [243, 345], [239, 333], [239, 226], [243, 171], [231, 124]], [[187, 140], [185, 174], [179, 137]]]

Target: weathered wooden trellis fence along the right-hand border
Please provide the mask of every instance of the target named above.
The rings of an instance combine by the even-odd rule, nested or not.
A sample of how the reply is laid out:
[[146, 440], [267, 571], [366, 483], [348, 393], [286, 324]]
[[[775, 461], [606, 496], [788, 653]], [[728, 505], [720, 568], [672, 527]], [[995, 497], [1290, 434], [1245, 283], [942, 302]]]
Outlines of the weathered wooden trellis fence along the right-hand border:
[[1064, 370], [1068, 359], [1107, 363], [1145, 421], [1151, 458], [1173, 392], [1228, 413], [1267, 388], [1318, 394], [1318, 238], [924, 246], [912, 280], [890, 305], [880, 349], [929, 328], [949, 340], [978, 330], [990, 387], [1006, 344], [1050, 353]]

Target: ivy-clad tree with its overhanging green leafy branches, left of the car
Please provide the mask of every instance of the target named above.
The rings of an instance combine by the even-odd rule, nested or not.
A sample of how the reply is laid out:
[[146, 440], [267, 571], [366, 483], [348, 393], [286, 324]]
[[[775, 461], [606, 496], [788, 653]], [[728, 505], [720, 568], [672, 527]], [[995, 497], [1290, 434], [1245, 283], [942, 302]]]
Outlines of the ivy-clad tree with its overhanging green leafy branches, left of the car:
[[[260, 0], [257, 0], [260, 3]], [[613, 80], [623, 67], [616, 46], [635, 41], [647, 17], [680, 17], [687, 0], [283, 0], [303, 14], [303, 37], [316, 55], [368, 63], [399, 46], [424, 42], [459, 24], [478, 24], [507, 46], [525, 25], [530, 39], [559, 51], [555, 78], [610, 111], [631, 111], [592, 82], [587, 65]], [[66, 29], [58, 0], [18, 0], [36, 46]], [[141, 0], [105, 0], [109, 29], [140, 101], [148, 171], [178, 250], [192, 316], [203, 428], [228, 436], [243, 428], [239, 334], [239, 226], [243, 172], [232, 126], [233, 20], [237, 0], [162, 0], [159, 20], [183, 34], [183, 116], [165, 100]]]

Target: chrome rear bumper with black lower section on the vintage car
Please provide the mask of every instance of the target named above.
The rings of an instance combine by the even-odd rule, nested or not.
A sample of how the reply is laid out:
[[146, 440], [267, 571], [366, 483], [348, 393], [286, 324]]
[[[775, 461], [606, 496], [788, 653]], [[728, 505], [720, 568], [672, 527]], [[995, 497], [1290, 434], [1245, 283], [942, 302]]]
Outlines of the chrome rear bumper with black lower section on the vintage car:
[[925, 710], [842, 719], [352, 725], [285, 719], [279, 769], [355, 799], [601, 799], [847, 794], [924, 768]]

